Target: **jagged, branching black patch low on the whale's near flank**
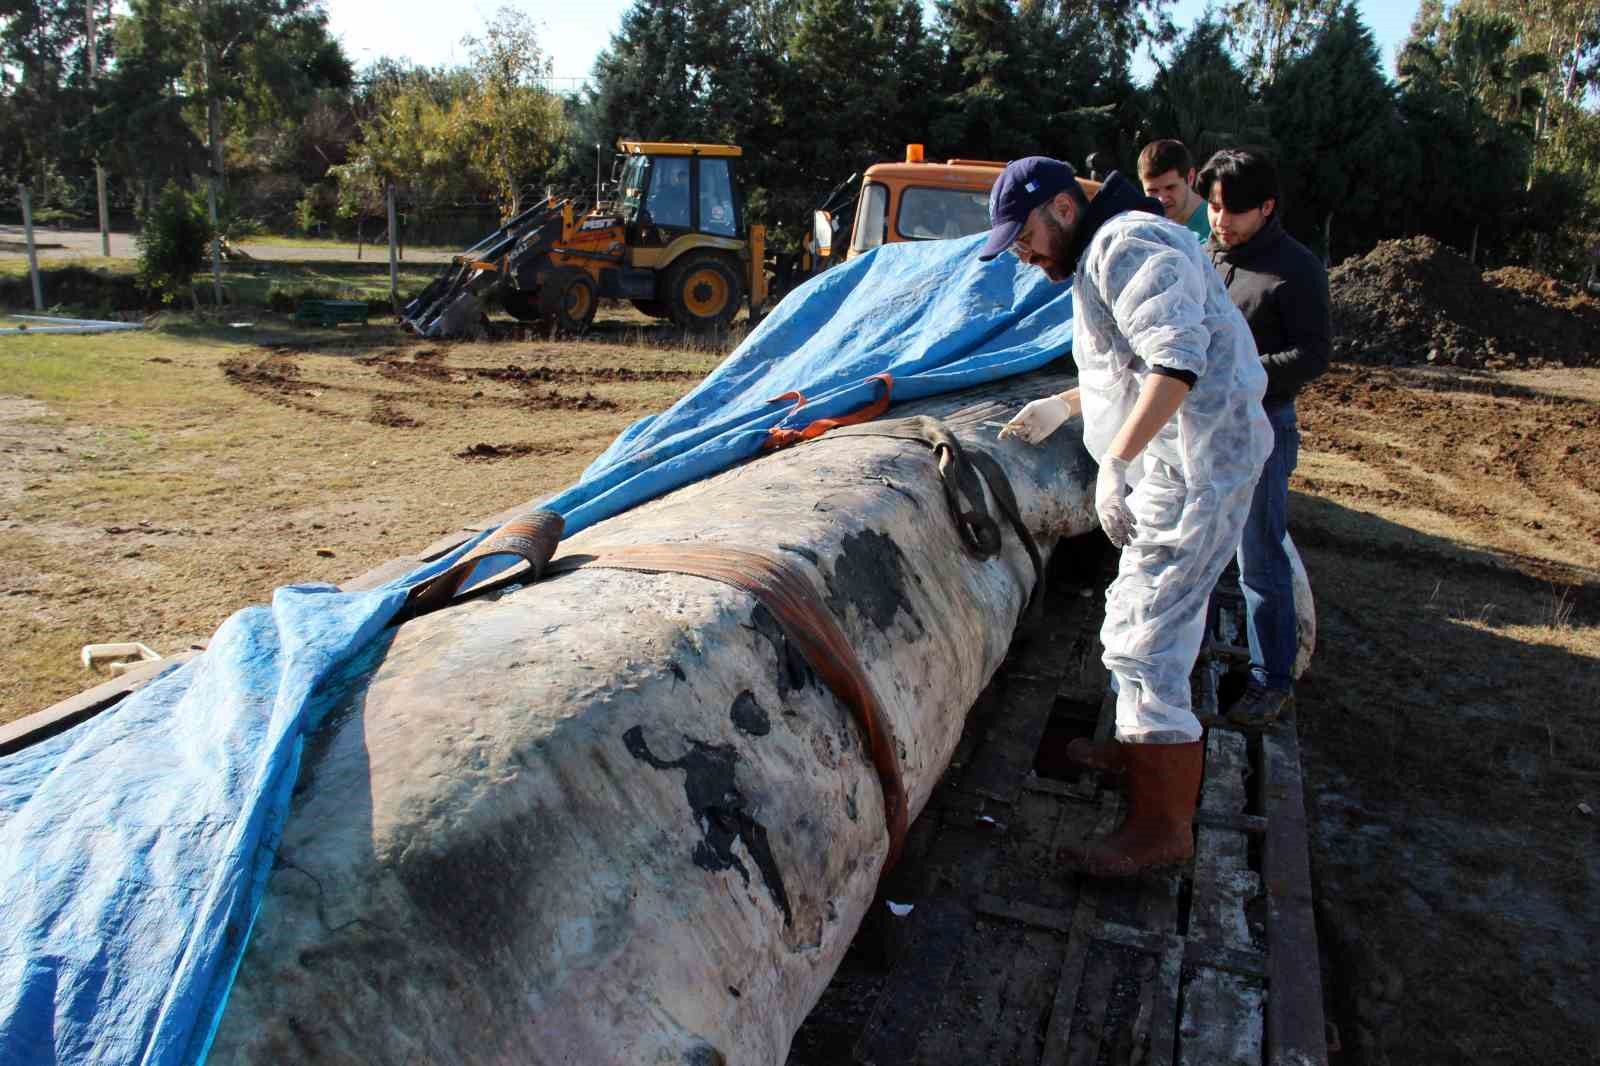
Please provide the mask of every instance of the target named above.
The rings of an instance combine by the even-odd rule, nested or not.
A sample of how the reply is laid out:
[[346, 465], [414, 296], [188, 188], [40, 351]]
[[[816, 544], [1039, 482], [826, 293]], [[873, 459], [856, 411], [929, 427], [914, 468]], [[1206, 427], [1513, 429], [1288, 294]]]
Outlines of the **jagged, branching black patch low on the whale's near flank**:
[[694, 821], [701, 828], [701, 842], [694, 845], [694, 864], [706, 871], [736, 869], [744, 884], [750, 884], [750, 871], [744, 868], [739, 856], [733, 853], [734, 840], [744, 840], [744, 848], [762, 872], [766, 892], [773, 903], [784, 912], [784, 925], [794, 925], [794, 914], [789, 909], [789, 892], [784, 888], [782, 874], [778, 871], [778, 860], [766, 840], [766, 826], [755, 821], [744, 807], [744, 794], [734, 783], [734, 767], [739, 752], [728, 744], [706, 744], [693, 736], [683, 738], [690, 749], [682, 759], [667, 762], [658, 759], [645, 743], [645, 727], [635, 725], [622, 733], [622, 744], [627, 752], [656, 770], [682, 770], [683, 794], [694, 812]]

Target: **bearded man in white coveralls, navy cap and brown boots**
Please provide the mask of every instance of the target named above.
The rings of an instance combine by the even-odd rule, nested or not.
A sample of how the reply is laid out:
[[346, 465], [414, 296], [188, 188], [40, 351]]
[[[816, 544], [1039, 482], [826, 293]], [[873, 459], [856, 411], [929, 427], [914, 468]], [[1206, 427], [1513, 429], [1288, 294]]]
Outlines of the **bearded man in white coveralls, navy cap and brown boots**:
[[1019, 158], [995, 182], [989, 214], [979, 258], [1010, 248], [1074, 287], [1078, 387], [1034, 400], [1000, 432], [1038, 443], [1082, 413], [1099, 463], [1094, 509], [1122, 547], [1101, 631], [1117, 736], [1074, 741], [1069, 755], [1126, 771], [1128, 816], [1064, 858], [1125, 877], [1194, 855], [1203, 755], [1189, 674], [1272, 451], [1267, 376], [1194, 234], [1122, 174], [1090, 195], [1070, 165]]

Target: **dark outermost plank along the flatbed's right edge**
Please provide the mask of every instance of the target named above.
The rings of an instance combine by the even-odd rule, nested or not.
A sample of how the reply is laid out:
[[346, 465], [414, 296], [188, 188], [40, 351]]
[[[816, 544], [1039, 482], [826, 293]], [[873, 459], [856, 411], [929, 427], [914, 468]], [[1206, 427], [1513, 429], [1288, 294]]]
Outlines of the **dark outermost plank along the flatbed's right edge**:
[[1261, 741], [1262, 810], [1267, 836], [1261, 866], [1267, 885], [1267, 1064], [1312, 1066], [1328, 1061], [1312, 914], [1310, 866], [1306, 855], [1306, 797], [1299, 738], [1283, 722]]

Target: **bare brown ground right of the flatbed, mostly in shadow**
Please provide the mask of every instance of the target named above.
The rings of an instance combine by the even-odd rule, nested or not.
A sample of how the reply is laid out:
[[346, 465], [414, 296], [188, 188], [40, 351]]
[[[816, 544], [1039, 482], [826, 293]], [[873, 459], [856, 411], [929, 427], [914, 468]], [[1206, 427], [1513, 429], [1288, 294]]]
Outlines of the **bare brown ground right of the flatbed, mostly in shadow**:
[[1600, 1056], [1597, 397], [1600, 370], [1339, 367], [1301, 400], [1338, 1063]]

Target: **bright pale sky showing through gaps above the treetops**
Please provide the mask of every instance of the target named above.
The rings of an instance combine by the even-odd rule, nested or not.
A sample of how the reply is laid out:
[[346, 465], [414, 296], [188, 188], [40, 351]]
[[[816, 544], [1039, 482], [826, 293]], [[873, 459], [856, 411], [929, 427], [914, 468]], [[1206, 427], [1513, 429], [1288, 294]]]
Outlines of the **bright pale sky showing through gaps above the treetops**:
[[[325, 0], [330, 29], [344, 42], [357, 66], [379, 56], [411, 59], [427, 66], [466, 59], [461, 38], [477, 32], [504, 5], [522, 8], [539, 26], [539, 40], [554, 61], [558, 91], [578, 88], [590, 74], [595, 56], [611, 43], [632, 0], [458, 0], [448, 6], [437, 0]], [[1173, 21], [1190, 26], [1206, 10], [1208, 0], [1178, 0]], [[1405, 42], [1418, 0], [1360, 0], [1362, 21], [1373, 30], [1384, 58], [1384, 72], [1394, 70], [1395, 51]], [[450, 24], [442, 27], [442, 13]], [[1154, 66], [1147, 54], [1134, 64], [1134, 77], [1147, 80]]]

